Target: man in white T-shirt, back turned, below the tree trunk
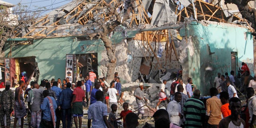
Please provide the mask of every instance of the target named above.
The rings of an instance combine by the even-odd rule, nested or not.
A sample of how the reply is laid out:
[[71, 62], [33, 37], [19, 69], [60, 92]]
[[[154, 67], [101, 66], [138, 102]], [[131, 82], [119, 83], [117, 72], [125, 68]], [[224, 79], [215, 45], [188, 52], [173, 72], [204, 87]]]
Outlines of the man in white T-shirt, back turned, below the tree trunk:
[[115, 86], [115, 83], [114, 82], [111, 82], [110, 83], [110, 88], [108, 88], [108, 96], [109, 96], [109, 108], [110, 108], [110, 110], [111, 110], [111, 105], [112, 104], [116, 104], [116, 105], [118, 105], [117, 104], [117, 98], [116, 98], [116, 95], [118, 95], [119, 96], [119, 94], [118, 94], [118, 92], [117, 92], [117, 90], [116, 90], [116, 88], [114, 88], [114, 86]]

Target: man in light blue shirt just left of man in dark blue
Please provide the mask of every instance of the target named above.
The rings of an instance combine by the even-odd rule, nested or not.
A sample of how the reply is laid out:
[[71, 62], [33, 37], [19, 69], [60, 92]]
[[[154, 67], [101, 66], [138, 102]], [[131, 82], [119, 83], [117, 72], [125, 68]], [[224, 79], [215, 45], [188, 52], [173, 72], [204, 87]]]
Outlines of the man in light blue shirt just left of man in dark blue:
[[57, 106], [58, 109], [56, 109], [55, 113], [56, 113], [56, 128], [60, 128], [60, 119], [61, 119], [61, 112], [60, 112], [60, 94], [61, 94], [61, 88], [58, 87], [58, 82], [54, 81], [52, 83], [52, 90], [55, 92], [56, 96], [57, 96]]

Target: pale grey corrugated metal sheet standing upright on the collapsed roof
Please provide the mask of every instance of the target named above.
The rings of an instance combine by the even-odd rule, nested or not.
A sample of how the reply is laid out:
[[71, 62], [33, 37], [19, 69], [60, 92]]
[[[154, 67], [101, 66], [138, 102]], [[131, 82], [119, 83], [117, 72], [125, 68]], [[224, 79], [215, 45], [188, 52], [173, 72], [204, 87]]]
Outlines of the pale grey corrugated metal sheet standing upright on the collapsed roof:
[[154, 4], [151, 24], [162, 26], [167, 22], [176, 22], [177, 15], [175, 9], [170, 8], [169, 0], [156, 0]]

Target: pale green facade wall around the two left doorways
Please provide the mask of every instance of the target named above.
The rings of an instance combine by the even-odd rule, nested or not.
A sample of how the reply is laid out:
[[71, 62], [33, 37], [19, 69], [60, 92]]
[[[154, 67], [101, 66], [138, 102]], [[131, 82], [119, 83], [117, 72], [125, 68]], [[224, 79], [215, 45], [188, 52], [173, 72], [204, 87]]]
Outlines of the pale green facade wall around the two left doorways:
[[[128, 38], [134, 37], [137, 31], [128, 31]], [[120, 43], [121, 32], [115, 32], [111, 40]], [[11, 41], [12, 39], [10, 39]], [[84, 51], [81, 50], [84, 46]], [[12, 48], [12, 58], [36, 56], [40, 71], [39, 80], [65, 78], [66, 54], [98, 53], [98, 69], [101, 66], [102, 51], [106, 50], [101, 40], [77, 41], [76, 37], [43, 38], [34, 40], [31, 45], [16, 45]], [[6, 42], [4, 51], [6, 57], [10, 52], [10, 42]], [[98, 72], [99, 76], [101, 72]]]

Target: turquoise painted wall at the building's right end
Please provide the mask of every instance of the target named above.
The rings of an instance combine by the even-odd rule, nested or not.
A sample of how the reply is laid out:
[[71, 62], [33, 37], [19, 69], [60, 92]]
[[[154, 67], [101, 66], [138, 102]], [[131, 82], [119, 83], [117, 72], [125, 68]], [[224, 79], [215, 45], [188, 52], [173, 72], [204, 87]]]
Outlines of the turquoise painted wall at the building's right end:
[[[194, 55], [189, 56], [189, 77], [201, 90], [202, 95], [210, 94], [214, 86], [214, 78], [220, 72], [224, 75], [231, 71], [231, 52], [237, 52], [237, 70], [242, 62], [246, 62], [254, 75], [253, 37], [248, 29], [230, 24], [202, 25], [192, 22], [187, 27], [187, 32], [192, 37]], [[244, 39], [246, 32], [247, 40]], [[210, 46], [212, 58], [209, 56]], [[212, 70], [206, 70], [206, 67]], [[236, 72], [237, 73], [237, 72]]]

